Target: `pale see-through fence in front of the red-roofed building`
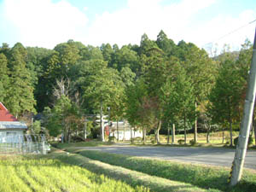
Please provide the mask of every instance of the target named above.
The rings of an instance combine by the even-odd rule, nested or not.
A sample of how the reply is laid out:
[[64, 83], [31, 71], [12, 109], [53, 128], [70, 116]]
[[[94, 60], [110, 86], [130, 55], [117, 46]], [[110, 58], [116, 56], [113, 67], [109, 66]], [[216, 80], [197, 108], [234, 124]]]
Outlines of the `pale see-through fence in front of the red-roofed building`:
[[0, 154], [47, 154], [44, 135], [0, 136]]

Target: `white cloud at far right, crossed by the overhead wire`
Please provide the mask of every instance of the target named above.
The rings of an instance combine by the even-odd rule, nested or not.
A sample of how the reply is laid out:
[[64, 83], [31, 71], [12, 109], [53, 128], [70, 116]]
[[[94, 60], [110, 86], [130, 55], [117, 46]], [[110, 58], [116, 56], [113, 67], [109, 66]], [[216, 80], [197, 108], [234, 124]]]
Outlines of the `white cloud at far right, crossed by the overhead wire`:
[[244, 10], [237, 17], [218, 15], [195, 30], [190, 39], [206, 49], [213, 46], [218, 52], [223, 49], [224, 44], [229, 44], [230, 49], [239, 49], [246, 38], [253, 41], [255, 22], [250, 25], [248, 23], [255, 20], [255, 15], [253, 10]]

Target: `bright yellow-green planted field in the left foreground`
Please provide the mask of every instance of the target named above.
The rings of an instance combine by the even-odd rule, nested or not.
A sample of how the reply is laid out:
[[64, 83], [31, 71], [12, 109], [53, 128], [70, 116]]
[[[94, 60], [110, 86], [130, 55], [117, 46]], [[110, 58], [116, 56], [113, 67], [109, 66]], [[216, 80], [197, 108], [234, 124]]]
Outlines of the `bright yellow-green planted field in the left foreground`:
[[0, 155], [0, 191], [148, 191], [49, 157]]

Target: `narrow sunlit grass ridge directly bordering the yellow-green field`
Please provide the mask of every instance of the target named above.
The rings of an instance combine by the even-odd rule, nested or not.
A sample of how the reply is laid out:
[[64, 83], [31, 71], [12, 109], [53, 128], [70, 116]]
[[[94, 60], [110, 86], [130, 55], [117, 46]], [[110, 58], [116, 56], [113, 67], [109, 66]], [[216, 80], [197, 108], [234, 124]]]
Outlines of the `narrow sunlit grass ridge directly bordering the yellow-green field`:
[[[189, 183], [175, 182], [165, 178], [148, 176], [148, 174], [142, 172], [131, 171], [119, 166], [111, 166], [98, 160], [90, 160], [79, 154], [53, 153], [49, 154], [48, 158], [49, 157], [71, 165], [83, 166], [91, 172], [104, 174], [114, 179], [125, 181], [125, 183], [129, 183], [132, 186], [143, 185], [153, 191], [205, 191], [205, 189], [195, 187]], [[118, 187], [115, 191], [125, 190]], [[218, 190], [210, 189], [209, 191]]]

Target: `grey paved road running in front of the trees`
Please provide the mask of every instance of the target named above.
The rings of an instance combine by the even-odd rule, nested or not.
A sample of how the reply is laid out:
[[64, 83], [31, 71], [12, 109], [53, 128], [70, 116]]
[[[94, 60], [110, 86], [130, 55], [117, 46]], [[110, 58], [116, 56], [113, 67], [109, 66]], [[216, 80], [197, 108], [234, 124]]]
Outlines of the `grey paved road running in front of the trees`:
[[[85, 148], [84, 148], [85, 149]], [[235, 149], [229, 148], [182, 148], [182, 147], [134, 147], [129, 145], [113, 145], [106, 147], [86, 148], [114, 154], [130, 154], [133, 156], [157, 158], [162, 160], [178, 160], [191, 163], [202, 163], [215, 166], [231, 166]], [[256, 151], [248, 150], [245, 167], [256, 170]]]

